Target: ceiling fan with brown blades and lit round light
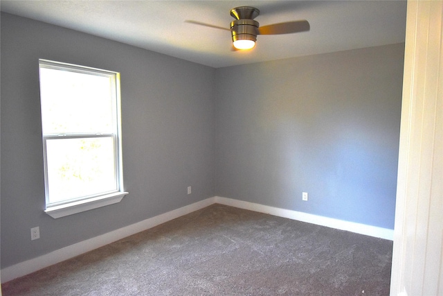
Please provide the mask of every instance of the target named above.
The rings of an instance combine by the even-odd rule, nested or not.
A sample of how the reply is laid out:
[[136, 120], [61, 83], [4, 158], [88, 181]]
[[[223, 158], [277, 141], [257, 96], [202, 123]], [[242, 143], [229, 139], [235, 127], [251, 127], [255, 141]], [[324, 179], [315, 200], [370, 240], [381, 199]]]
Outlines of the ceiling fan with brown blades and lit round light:
[[255, 17], [260, 15], [260, 10], [251, 6], [240, 6], [230, 10], [230, 15], [235, 19], [230, 22], [230, 28], [201, 23], [200, 21], [187, 20], [191, 24], [207, 26], [230, 31], [235, 49], [252, 49], [257, 41], [257, 35], [278, 35], [309, 31], [309, 22], [305, 19], [287, 21], [279, 24], [259, 26]]

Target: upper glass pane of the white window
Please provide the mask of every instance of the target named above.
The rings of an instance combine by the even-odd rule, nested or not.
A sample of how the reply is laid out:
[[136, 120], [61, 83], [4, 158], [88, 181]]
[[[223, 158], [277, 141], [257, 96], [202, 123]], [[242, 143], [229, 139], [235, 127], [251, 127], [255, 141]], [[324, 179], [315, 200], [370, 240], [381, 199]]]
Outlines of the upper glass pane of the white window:
[[113, 78], [41, 67], [43, 133], [113, 132]]

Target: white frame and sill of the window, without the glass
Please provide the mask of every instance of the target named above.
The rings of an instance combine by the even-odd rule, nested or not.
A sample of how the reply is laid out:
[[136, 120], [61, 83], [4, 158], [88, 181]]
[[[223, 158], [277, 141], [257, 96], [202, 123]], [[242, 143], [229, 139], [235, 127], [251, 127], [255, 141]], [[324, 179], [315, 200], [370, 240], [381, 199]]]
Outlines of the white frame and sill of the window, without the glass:
[[[73, 71], [77, 73], [87, 73], [94, 76], [107, 76], [111, 78], [115, 87], [115, 121], [116, 132], [107, 134], [85, 134], [85, 133], [73, 133], [73, 134], [43, 134], [43, 151], [44, 151], [44, 183], [45, 183], [45, 197], [46, 197], [46, 210], [45, 213], [53, 218], [60, 218], [77, 214], [82, 211], [89, 211], [98, 207], [105, 207], [109, 204], [115, 204], [120, 202], [128, 193], [124, 191], [123, 186], [123, 161], [122, 161], [122, 143], [121, 143], [121, 108], [120, 108], [120, 73], [114, 71], [107, 71], [102, 69], [95, 69], [91, 67], [82, 67], [74, 64], [66, 64], [62, 62], [54, 62], [50, 60], [39, 60], [39, 69], [48, 68], [62, 71]], [[109, 192], [102, 192], [96, 195], [82, 196], [74, 198], [68, 201], [53, 202], [49, 201], [48, 190], [48, 163], [47, 163], [47, 151], [46, 142], [53, 139], [78, 139], [78, 138], [98, 138], [98, 137], [111, 137], [114, 139], [114, 161], [116, 168], [116, 190]]]

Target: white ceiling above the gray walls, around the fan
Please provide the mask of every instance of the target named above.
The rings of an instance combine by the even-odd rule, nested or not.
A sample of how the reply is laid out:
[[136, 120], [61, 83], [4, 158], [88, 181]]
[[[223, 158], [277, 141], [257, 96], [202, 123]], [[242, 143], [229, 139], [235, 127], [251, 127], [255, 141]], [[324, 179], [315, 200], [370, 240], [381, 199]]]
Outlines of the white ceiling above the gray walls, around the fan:
[[[4, 1], [1, 11], [172, 55], [228, 67], [404, 42], [406, 1]], [[311, 30], [259, 35], [251, 51], [232, 51], [231, 8], [260, 10], [260, 25], [307, 19]]]

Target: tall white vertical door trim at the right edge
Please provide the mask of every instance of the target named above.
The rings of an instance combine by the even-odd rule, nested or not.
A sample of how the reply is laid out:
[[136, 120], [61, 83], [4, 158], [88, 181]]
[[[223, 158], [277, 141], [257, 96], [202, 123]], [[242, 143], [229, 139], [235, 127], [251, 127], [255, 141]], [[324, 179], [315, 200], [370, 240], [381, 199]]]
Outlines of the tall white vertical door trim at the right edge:
[[443, 1], [408, 0], [391, 295], [443, 295]]

